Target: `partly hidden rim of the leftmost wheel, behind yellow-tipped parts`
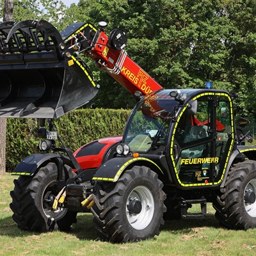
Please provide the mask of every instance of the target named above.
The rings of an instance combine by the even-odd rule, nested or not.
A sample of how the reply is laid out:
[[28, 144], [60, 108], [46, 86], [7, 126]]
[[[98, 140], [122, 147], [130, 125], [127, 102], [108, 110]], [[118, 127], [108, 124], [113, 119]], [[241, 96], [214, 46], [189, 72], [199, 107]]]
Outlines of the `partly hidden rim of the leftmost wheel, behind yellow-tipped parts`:
[[54, 200], [55, 196], [57, 196], [58, 193], [59, 191], [57, 189], [57, 184], [55, 181], [49, 182], [49, 184], [44, 189], [42, 197], [42, 208], [47, 218], [54, 218], [54, 220], [60, 220], [67, 212], [67, 209], [63, 209], [62, 207], [58, 207], [56, 211], [52, 210], [52, 198]]

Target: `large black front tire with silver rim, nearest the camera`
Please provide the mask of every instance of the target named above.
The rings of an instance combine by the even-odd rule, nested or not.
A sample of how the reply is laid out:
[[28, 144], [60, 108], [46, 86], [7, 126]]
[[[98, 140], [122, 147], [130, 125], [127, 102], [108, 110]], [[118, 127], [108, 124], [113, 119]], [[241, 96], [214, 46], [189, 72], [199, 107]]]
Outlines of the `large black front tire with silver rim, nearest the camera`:
[[145, 166], [134, 166], [116, 182], [97, 182], [93, 224], [104, 241], [123, 243], [159, 235], [164, 223], [165, 193], [157, 174]]

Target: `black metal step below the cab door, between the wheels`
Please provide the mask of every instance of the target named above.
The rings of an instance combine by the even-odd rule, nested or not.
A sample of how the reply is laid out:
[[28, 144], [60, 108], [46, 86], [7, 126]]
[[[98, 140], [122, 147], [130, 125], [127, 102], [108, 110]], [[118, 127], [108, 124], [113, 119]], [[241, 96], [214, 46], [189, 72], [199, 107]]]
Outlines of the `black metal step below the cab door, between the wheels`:
[[[181, 200], [180, 201], [180, 211], [182, 219], [200, 219], [204, 218], [207, 212], [206, 207], [206, 199], [204, 197], [200, 199], [192, 199], [192, 200]], [[201, 212], [188, 212], [188, 209], [192, 207], [193, 204], [201, 205]]]

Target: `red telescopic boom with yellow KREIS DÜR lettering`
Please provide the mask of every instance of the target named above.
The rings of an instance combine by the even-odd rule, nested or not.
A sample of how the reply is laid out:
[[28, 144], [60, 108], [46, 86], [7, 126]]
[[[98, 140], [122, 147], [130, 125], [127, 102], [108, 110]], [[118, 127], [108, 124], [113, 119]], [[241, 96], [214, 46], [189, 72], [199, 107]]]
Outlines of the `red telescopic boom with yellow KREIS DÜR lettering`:
[[[118, 34], [116, 36], [118, 37]], [[84, 52], [86, 56], [92, 58], [100, 68], [108, 72], [132, 95], [136, 91], [147, 95], [163, 89], [145, 70], [127, 56], [127, 52], [111, 47], [111, 42], [104, 31], [97, 31], [92, 46], [90, 51]]]

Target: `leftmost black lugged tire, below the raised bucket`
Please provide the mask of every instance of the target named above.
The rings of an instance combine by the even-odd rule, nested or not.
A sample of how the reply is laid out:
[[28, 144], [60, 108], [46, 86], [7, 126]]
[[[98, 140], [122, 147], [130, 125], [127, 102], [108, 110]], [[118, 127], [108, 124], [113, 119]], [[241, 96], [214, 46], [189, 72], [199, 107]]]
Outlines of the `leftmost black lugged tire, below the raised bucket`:
[[47, 232], [61, 230], [68, 232], [76, 223], [77, 212], [68, 209], [52, 210], [54, 196], [59, 191], [56, 186], [58, 170], [55, 163], [40, 168], [35, 176], [14, 180], [11, 191], [13, 220], [21, 230]]

